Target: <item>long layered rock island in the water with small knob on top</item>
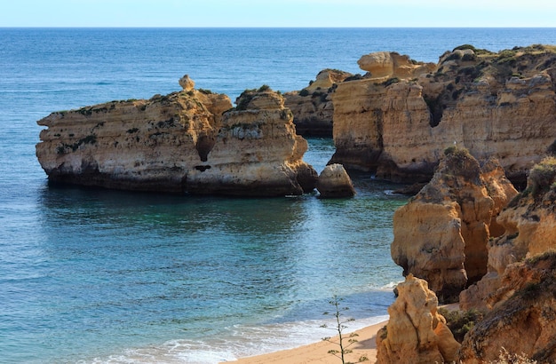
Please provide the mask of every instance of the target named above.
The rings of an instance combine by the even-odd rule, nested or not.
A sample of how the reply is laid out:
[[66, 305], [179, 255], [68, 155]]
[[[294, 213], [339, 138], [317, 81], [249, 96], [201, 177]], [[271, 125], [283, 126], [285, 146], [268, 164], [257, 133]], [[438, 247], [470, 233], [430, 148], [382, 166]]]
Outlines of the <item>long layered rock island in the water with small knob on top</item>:
[[[196, 91], [112, 101], [40, 120], [36, 155], [52, 181], [128, 190], [275, 196], [314, 189], [282, 96], [261, 88], [230, 99]], [[241, 106], [241, 107], [240, 107]], [[228, 111], [226, 111], [228, 110]], [[223, 114], [224, 113], [224, 114]]]

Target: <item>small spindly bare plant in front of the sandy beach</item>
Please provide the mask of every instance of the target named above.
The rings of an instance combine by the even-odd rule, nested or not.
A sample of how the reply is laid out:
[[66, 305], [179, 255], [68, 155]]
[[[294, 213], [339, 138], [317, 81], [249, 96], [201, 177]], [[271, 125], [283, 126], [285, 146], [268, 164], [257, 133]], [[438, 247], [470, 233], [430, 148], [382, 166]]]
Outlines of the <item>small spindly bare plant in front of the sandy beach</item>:
[[[322, 340], [323, 341], [328, 341], [329, 343], [332, 343], [332, 344], [337, 344], [339, 346], [339, 350], [336, 350], [336, 349], [329, 350], [329, 354], [332, 354], [335, 357], [341, 359], [342, 364], [352, 364], [350, 362], [346, 362], [346, 354], [349, 354], [350, 352], [353, 352], [352, 350], [349, 349], [349, 347], [352, 346], [353, 344], [357, 343], [357, 339], [355, 339], [354, 337], [357, 337], [358, 335], [355, 334], [355, 333], [351, 333], [348, 336], [346, 336], [346, 334], [344, 332], [347, 328], [346, 323], [354, 321], [355, 319], [353, 319], [353, 318], [345, 319], [344, 318], [344, 316], [345, 316], [344, 312], [349, 310], [349, 307], [341, 305], [341, 302], [343, 300], [344, 300], [343, 298], [340, 298], [340, 297], [334, 295], [332, 297], [332, 299], [329, 301], [330, 305], [334, 306], [334, 311], [332, 313], [329, 313], [329, 312], [322, 313], [323, 315], [332, 315], [336, 319], [336, 322], [334, 323], [333, 327], [330, 328], [327, 324], [324, 324], [324, 325], [321, 325], [321, 328], [330, 328], [330, 329], [335, 330], [336, 332], [338, 332], [338, 342], [333, 341], [330, 336], [329, 337], [322, 337]], [[369, 360], [369, 359], [365, 356], [361, 356], [359, 361], [361, 362], [361, 361], [365, 361], [365, 360]]]

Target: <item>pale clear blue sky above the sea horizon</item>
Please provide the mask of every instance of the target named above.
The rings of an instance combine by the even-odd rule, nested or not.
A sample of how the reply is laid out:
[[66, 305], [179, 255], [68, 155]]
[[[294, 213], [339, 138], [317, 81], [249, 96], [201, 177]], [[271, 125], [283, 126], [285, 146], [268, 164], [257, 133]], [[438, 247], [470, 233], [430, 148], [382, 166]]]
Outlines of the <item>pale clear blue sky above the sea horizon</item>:
[[0, 27], [556, 27], [554, 0], [1, 0]]

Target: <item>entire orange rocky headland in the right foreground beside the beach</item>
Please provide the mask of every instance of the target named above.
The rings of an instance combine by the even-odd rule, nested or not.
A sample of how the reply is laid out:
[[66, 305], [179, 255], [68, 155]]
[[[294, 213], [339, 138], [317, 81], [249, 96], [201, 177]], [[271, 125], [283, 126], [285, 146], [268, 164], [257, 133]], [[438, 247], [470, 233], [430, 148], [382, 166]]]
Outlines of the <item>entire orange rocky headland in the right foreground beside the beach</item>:
[[[466, 150], [447, 149], [433, 179], [394, 215], [392, 257], [407, 277], [397, 288], [388, 326], [377, 336], [379, 362], [401, 362], [401, 357], [433, 362], [428, 355], [438, 362], [454, 360], [439, 357], [439, 338], [432, 334], [439, 321], [433, 305], [438, 295], [445, 302], [459, 301], [457, 322], [443, 320], [464, 332], [456, 362], [555, 363], [554, 202], [555, 157], [536, 164], [518, 194], [495, 160], [479, 162]], [[432, 291], [414, 289], [408, 295], [408, 282], [417, 285], [414, 275]], [[427, 321], [414, 318], [411, 301], [431, 312], [419, 314]], [[393, 336], [397, 325], [405, 329]], [[513, 361], [496, 361], [501, 356]]]

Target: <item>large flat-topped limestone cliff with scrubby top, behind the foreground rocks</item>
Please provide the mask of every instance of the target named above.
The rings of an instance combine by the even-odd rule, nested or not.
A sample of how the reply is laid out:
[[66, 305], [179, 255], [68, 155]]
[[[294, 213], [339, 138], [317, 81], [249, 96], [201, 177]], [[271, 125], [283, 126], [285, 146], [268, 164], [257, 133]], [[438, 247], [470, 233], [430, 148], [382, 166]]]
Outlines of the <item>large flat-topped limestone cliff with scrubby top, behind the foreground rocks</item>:
[[524, 184], [556, 139], [555, 47], [493, 53], [466, 45], [436, 67], [385, 52], [359, 63], [369, 74], [331, 94], [337, 152], [330, 162], [348, 169], [428, 181], [456, 142], [476, 158], [496, 157]]

